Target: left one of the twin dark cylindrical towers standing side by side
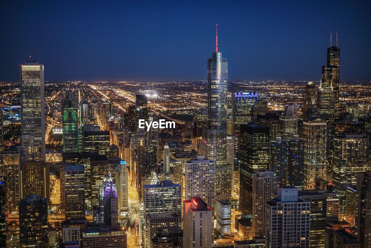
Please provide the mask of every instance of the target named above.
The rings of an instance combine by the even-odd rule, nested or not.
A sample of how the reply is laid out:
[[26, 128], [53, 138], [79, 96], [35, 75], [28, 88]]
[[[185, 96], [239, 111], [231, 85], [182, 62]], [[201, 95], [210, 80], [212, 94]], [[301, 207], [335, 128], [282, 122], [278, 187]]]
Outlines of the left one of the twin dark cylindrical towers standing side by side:
[[276, 137], [276, 142], [270, 143], [269, 170], [273, 170], [276, 173], [278, 186], [286, 186], [287, 142], [282, 141], [281, 137]]

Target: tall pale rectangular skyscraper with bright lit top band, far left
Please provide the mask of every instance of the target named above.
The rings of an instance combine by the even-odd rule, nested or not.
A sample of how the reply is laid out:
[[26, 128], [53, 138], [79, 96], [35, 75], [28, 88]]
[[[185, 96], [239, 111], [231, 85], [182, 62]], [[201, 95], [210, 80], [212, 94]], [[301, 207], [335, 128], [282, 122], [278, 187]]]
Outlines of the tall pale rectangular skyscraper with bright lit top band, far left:
[[44, 65], [19, 65], [21, 102], [21, 158], [45, 161]]

